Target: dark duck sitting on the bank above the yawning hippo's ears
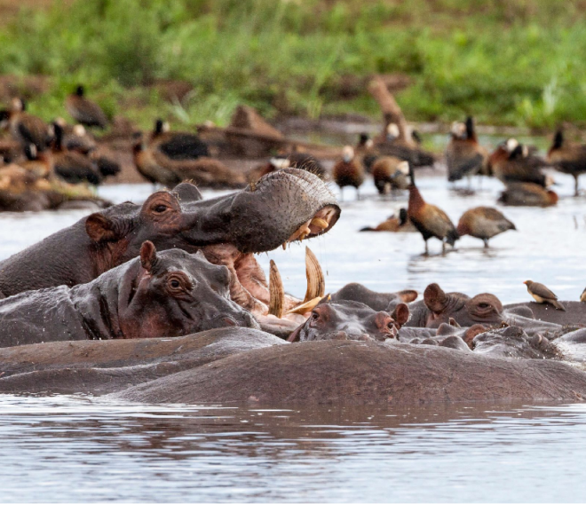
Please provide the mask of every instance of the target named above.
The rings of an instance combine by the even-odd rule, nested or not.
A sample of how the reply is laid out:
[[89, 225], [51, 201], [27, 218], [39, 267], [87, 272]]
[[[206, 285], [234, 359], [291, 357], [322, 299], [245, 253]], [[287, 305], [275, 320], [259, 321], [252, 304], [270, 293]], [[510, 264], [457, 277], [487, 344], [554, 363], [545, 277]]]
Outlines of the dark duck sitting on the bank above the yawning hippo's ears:
[[208, 145], [194, 133], [170, 131], [169, 123], [157, 119], [154, 130], [148, 140], [149, 146], [171, 160], [195, 160], [201, 156], [210, 156]]

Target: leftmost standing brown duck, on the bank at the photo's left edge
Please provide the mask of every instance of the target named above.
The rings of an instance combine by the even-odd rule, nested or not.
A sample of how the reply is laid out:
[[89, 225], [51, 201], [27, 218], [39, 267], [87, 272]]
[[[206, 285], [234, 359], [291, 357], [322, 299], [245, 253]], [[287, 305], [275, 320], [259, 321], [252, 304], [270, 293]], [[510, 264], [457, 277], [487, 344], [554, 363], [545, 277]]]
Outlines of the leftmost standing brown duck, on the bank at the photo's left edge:
[[26, 112], [27, 103], [22, 98], [12, 98], [11, 108], [0, 112], [0, 124], [5, 125], [12, 138], [24, 148], [34, 144], [38, 151], [44, 151], [51, 139], [51, 127], [36, 115]]

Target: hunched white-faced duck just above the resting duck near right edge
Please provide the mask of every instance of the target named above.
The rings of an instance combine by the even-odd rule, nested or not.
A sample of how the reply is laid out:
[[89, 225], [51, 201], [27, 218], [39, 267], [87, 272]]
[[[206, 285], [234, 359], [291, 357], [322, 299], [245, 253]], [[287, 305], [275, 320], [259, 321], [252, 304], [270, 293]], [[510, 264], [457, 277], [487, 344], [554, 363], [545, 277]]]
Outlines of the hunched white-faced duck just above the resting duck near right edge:
[[508, 138], [488, 157], [492, 173], [503, 184], [511, 182], [534, 183], [542, 187], [554, 185], [553, 178], [542, 172], [547, 162], [532, 154], [528, 146]]

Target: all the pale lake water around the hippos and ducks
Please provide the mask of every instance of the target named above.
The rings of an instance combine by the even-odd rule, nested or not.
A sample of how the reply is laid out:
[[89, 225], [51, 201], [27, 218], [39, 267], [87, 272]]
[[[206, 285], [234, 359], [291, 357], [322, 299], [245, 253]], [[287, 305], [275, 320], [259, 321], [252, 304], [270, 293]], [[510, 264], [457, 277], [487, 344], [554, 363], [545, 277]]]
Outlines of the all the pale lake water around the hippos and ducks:
[[[555, 177], [558, 206], [502, 208], [519, 231], [490, 249], [466, 237], [442, 256], [431, 240], [423, 256], [419, 233], [358, 232], [407, 203], [404, 193], [379, 198], [371, 183], [361, 201], [344, 191], [337, 226], [309, 246], [329, 291], [355, 280], [423, 292], [435, 281], [511, 303], [529, 300], [522, 281], [531, 279], [577, 300], [586, 285], [586, 198], [572, 197], [571, 177]], [[455, 223], [466, 209], [495, 206], [503, 188], [485, 179], [481, 192], [462, 196], [442, 177], [418, 185]], [[151, 191], [99, 193], [142, 201]], [[0, 259], [87, 213], [0, 214]], [[259, 259], [267, 271], [272, 257], [288, 291], [304, 295], [304, 250], [293, 244]], [[0, 501], [580, 501], [586, 405], [257, 410], [4, 395], [0, 453]]]

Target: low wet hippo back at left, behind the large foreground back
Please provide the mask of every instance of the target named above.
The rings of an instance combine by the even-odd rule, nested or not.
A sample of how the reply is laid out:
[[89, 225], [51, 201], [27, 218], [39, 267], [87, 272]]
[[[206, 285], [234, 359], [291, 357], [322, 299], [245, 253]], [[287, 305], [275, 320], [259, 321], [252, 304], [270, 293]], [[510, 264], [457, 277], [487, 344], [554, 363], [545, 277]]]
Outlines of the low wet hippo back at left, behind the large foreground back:
[[103, 395], [242, 351], [289, 344], [223, 327], [175, 338], [38, 343], [0, 349], [0, 392]]

